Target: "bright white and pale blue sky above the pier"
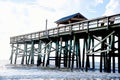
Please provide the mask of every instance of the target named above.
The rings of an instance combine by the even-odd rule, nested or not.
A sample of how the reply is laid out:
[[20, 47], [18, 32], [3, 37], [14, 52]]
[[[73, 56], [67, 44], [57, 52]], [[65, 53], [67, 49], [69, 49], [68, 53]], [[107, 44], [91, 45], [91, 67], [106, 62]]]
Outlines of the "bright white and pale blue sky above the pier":
[[56, 20], [81, 13], [88, 19], [120, 13], [120, 0], [0, 0], [0, 59], [9, 59], [10, 37], [56, 27]]

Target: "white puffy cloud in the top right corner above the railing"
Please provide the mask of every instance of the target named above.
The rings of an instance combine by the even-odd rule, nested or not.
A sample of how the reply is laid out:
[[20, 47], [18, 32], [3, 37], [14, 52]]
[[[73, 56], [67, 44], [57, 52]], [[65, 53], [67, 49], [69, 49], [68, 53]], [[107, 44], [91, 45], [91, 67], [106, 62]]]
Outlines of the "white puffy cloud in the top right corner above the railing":
[[104, 15], [112, 15], [120, 13], [120, 0], [110, 0], [106, 6], [106, 11]]

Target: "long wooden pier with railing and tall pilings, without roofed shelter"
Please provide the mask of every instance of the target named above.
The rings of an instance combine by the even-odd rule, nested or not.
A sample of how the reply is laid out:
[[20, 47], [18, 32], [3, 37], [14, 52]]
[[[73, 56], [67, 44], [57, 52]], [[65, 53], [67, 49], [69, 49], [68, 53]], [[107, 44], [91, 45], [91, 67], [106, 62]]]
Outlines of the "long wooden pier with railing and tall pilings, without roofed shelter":
[[120, 73], [120, 14], [10, 37], [10, 63]]

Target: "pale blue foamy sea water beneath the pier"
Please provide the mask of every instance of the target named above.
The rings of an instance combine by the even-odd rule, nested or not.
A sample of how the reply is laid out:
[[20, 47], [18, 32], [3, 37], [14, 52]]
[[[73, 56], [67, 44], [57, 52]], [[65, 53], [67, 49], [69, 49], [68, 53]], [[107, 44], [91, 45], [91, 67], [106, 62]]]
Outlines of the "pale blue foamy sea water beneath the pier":
[[49, 69], [37, 66], [0, 64], [0, 80], [120, 80], [120, 73], [100, 73], [75, 69]]

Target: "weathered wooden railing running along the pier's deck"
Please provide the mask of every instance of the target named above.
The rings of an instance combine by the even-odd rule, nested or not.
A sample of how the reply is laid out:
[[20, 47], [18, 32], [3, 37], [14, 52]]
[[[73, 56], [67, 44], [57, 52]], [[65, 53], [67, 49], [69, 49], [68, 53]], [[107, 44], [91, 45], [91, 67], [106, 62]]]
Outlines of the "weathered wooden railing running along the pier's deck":
[[67, 24], [65, 26], [52, 28], [47, 31], [44, 30], [40, 32], [34, 32], [30, 34], [10, 37], [10, 43], [30, 41], [34, 39], [40, 39], [41, 37], [46, 37], [50, 35], [56, 35], [56, 34], [61, 34], [65, 32], [73, 32], [73, 31], [80, 31], [80, 30], [89, 30], [91, 28], [98, 28], [103, 26], [107, 26], [108, 28], [109, 25], [114, 25], [118, 23], [120, 23], [120, 14], [105, 16], [105, 17], [100, 17], [96, 19]]

